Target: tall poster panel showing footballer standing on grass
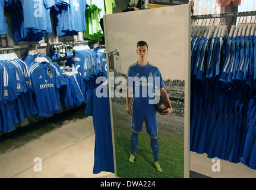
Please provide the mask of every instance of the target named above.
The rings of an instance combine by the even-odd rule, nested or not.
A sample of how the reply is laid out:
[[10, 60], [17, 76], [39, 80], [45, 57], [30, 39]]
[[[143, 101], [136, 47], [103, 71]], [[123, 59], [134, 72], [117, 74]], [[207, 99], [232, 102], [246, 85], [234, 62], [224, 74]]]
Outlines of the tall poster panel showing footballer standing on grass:
[[189, 6], [104, 16], [119, 178], [188, 176]]

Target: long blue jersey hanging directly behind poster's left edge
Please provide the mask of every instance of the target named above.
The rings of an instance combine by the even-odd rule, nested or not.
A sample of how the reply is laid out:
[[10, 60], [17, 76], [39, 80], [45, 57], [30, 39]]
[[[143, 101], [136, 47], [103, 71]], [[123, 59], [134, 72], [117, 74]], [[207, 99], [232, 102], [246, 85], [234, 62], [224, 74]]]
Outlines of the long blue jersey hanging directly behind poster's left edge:
[[[108, 93], [108, 85], [102, 84], [99, 88]], [[95, 131], [93, 173], [114, 173], [109, 97], [99, 97], [94, 88], [86, 105], [86, 115], [93, 116]]]

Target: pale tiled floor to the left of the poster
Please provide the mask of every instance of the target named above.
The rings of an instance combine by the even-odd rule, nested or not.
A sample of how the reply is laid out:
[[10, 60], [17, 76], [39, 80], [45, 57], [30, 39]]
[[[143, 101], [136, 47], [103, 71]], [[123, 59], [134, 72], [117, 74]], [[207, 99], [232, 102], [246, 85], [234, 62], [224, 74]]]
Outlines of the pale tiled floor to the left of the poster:
[[115, 178], [93, 174], [94, 139], [92, 117], [81, 109], [2, 140], [0, 178]]

